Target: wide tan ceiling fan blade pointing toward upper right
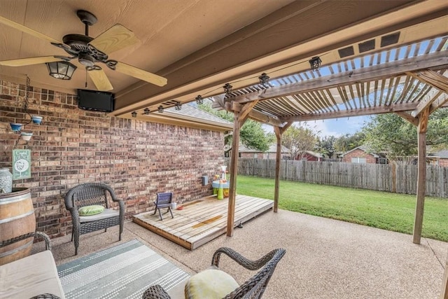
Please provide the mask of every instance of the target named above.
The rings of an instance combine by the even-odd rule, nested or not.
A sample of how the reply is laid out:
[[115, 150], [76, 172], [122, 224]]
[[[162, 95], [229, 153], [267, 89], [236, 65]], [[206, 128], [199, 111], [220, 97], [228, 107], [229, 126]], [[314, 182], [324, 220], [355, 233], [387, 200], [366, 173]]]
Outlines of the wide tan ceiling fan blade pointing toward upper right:
[[99, 34], [93, 41], [90, 41], [90, 45], [106, 54], [110, 54], [138, 42], [139, 39], [134, 35], [134, 32], [123, 25], [116, 24]]

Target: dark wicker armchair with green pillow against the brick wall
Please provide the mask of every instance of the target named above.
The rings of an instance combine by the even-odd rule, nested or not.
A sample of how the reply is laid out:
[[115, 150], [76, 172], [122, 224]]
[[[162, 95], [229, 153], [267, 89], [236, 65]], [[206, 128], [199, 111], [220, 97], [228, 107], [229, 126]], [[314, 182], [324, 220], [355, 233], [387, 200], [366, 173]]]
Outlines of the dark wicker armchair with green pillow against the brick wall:
[[[118, 202], [119, 211], [109, 209], [109, 197], [113, 202]], [[105, 209], [101, 214], [94, 216], [79, 216], [80, 207], [92, 204], [102, 205]], [[73, 228], [71, 241], [75, 241], [75, 255], [78, 255], [79, 236], [87, 232], [102, 230], [106, 232], [111, 226], [120, 225], [118, 240], [121, 240], [123, 223], [125, 221], [125, 203], [118, 200], [113, 189], [104, 183], [83, 183], [71, 188], [65, 195], [65, 207], [70, 211]]]

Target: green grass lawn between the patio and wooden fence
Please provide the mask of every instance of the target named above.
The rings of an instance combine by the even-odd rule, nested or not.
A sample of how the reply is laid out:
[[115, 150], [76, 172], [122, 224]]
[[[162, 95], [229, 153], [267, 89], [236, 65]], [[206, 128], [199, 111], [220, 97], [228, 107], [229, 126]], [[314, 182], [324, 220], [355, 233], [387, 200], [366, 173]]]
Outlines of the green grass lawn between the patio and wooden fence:
[[[274, 200], [274, 179], [238, 176], [237, 193]], [[280, 181], [279, 208], [412, 235], [416, 195]], [[422, 236], [448, 242], [448, 199], [426, 197]]]

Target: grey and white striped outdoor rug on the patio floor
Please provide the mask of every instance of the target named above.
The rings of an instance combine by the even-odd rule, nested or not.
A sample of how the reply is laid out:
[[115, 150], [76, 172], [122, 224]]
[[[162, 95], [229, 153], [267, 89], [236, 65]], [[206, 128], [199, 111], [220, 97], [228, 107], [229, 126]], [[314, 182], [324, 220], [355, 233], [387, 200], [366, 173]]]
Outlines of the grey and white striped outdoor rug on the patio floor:
[[189, 274], [137, 239], [57, 267], [69, 298], [141, 298], [146, 288], [160, 284], [169, 291]]

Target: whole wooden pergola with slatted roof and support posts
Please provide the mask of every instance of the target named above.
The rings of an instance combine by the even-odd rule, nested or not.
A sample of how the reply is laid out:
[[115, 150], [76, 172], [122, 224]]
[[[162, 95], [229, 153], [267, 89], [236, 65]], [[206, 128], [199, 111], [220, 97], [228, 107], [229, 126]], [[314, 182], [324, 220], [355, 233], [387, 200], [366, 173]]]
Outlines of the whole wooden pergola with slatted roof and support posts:
[[[363, 43], [358, 46], [360, 49]], [[413, 242], [420, 244], [426, 194], [426, 130], [430, 113], [448, 106], [447, 48], [448, 36], [444, 34], [328, 64], [325, 72], [324, 68], [302, 71], [275, 78], [270, 84], [262, 83], [260, 78], [258, 85], [216, 96], [216, 108], [234, 113], [227, 235], [231, 237], [235, 227], [239, 131], [248, 118], [274, 127], [277, 212], [281, 137], [290, 125], [297, 121], [395, 113], [412, 123], [418, 134]], [[448, 298], [448, 262], [440, 298]]]

